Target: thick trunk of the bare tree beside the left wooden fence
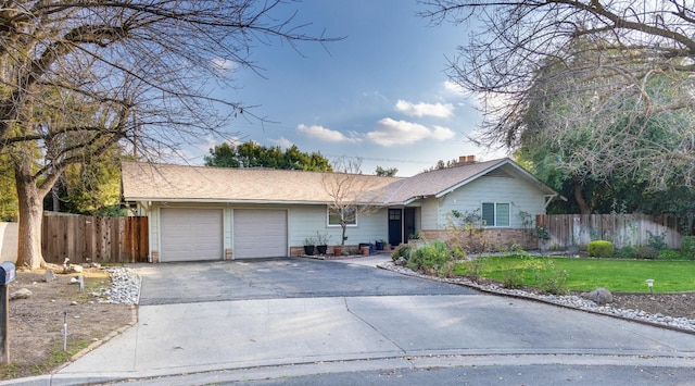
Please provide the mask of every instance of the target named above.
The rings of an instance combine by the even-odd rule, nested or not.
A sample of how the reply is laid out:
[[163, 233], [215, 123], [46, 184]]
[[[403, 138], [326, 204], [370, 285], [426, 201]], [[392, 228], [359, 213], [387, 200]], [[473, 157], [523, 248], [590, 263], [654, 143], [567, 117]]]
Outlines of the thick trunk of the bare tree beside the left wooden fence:
[[41, 253], [41, 221], [43, 215], [43, 196], [36, 187], [33, 176], [15, 166], [15, 182], [20, 201], [20, 246], [17, 266], [37, 270], [46, 266]]

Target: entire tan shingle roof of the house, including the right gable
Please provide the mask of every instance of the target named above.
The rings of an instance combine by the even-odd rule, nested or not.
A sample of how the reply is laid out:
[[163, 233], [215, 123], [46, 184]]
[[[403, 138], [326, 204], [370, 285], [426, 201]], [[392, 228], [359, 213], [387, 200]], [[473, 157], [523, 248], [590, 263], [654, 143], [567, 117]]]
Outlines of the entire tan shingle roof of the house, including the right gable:
[[298, 202], [331, 201], [327, 184], [351, 176], [355, 190], [371, 202], [407, 204], [421, 197], [441, 197], [476, 178], [504, 171], [534, 184], [545, 195], [548, 186], [508, 158], [463, 164], [412, 177], [380, 177], [271, 169], [205, 167], [124, 162], [123, 196], [127, 201]]

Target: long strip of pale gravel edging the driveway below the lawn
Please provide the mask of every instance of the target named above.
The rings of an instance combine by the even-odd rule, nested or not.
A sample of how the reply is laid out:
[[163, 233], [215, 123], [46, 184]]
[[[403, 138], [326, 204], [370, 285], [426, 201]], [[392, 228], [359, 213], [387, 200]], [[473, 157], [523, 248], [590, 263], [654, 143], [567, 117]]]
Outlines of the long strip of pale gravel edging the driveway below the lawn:
[[598, 306], [592, 300], [583, 299], [574, 295], [570, 295], [570, 296], [540, 295], [540, 294], [527, 292], [519, 289], [507, 289], [504, 287], [500, 287], [497, 285], [482, 285], [465, 277], [456, 277], [456, 278], [434, 277], [434, 276], [420, 274], [405, 266], [396, 265], [393, 262], [386, 262], [386, 263], [379, 264], [379, 267], [397, 272], [404, 275], [418, 276], [418, 277], [435, 279], [444, 283], [464, 285], [466, 287], [480, 289], [485, 292], [507, 295], [507, 296], [514, 296], [518, 298], [534, 299], [534, 300], [547, 302], [551, 304], [558, 304], [558, 306], [584, 310], [589, 312], [619, 316], [619, 317], [624, 317], [629, 320], [634, 320], [634, 321], [640, 321], [640, 322], [645, 322], [645, 323], [650, 323], [656, 325], [664, 325], [670, 328], [681, 329], [684, 332], [695, 333], [695, 320], [693, 319], [672, 317], [672, 316], [662, 315], [660, 313], [649, 314], [641, 310], [630, 310], [630, 309], [623, 310], [623, 309], [612, 308], [609, 306]]

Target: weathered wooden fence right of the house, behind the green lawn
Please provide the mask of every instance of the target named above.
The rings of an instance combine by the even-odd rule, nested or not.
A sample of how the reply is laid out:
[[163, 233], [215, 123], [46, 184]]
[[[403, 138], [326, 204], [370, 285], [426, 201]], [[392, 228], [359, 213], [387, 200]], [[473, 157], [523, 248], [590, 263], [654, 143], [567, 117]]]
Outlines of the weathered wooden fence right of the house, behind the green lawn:
[[591, 240], [608, 240], [616, 248], [647, 245], [649, 236], [664, 237], [671, 249], [681, 246], [679, 221], [670, 215], [648, 214], [540, 214], [536, 226], [547, 229], [551, 247], [579, 246]]

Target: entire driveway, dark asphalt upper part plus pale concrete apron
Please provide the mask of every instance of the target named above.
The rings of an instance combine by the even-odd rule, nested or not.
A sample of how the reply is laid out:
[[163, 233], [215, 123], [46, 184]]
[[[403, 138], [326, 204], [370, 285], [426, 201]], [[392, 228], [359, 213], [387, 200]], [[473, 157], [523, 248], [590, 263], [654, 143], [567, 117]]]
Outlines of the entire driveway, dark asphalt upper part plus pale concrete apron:
[[53, 375], [53, 385], [219, 376], [223, 370], [233, 371], [225, 373], [233, 379], [258, 379], [471, 363], [620, 363], [636, 372], [662, 365], [692, 371], [695, 364], [695, 335], [352, 262], [273, 259], [139, 270], [138, 324]]

